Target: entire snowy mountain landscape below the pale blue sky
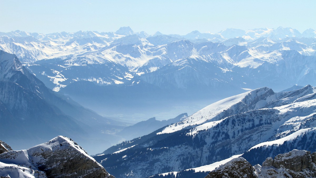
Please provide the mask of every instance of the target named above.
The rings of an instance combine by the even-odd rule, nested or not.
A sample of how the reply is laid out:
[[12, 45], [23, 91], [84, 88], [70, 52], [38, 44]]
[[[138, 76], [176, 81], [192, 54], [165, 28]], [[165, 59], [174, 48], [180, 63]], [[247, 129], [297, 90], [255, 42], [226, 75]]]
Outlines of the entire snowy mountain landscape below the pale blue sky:
[[0, 32], [0, 177], [315, 177], [315, 77], [314, 29]]

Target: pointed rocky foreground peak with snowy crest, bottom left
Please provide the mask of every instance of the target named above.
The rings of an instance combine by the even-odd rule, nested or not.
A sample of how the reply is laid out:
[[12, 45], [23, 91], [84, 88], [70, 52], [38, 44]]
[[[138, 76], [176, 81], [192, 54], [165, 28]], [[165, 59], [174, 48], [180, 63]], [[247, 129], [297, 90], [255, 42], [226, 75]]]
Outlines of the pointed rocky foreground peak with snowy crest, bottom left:
[[5, 152], [0, 162], [39, 170], [47, 177], [114, 178], [76, 142], [63, 136], [27, 150]]

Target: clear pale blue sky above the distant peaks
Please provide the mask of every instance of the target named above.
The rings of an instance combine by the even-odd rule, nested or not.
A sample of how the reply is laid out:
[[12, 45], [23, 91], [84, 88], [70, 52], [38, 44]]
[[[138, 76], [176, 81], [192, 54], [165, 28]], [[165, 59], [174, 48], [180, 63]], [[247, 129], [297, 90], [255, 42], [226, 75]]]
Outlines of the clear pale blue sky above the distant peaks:
[[198, 30], [316, 29], [314, 0], [0, 0], [0, 32], [116, 31], [185, 35]]

